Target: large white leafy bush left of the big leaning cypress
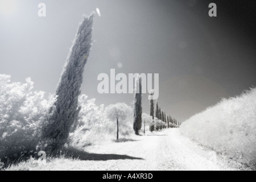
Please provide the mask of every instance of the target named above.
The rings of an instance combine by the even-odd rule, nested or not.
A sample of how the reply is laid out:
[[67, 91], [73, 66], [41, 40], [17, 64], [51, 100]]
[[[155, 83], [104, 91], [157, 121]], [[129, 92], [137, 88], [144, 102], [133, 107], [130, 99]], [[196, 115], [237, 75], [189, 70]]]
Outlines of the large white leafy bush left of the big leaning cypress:
[[[44, 99], [44, 92], [32, 91], [30, 78], [26, 83], [10, 82], [0, 75], [0, 159], [20, 158], [22, 152], [36, 150], [42, 121], [54, 101]], [[5, 158], [6, 159], [6, 158]]]

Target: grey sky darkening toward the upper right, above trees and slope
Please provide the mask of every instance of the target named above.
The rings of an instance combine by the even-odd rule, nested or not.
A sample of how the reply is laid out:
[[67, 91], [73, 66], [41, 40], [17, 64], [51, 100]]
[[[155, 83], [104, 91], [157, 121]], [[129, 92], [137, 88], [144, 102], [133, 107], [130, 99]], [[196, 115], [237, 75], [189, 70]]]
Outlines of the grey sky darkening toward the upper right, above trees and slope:
[[[82, 14], [94, 19], [93, 47], [82, 93], [97, 104], [126, 102], [133, 94], [98, 94], [97, 76], [159, 73], [159, 105], [184, 121], [255, 85], [255, 1], [0, 0], [0, 74], [54, 93]], [[10, 0], [7, 0], [10, 1]], [[47, 16], [39, 18], [38, 3]], [[208, 5], [217, 5], [209, 17]], [[10, 10], [10, 11], [5, 11]], [[122, 68], [118, 67], [122, 63]], [[143, 112], [148, 113], [147, 94]]]

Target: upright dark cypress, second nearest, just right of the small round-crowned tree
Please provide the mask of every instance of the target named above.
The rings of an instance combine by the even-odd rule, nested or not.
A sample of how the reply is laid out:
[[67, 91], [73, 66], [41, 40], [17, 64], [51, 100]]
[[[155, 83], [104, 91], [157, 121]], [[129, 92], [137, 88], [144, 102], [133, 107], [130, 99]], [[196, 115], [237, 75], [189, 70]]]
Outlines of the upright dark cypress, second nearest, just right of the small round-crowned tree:
[[137, 81], [139, 81], [139, 88], [138, 84], [135, 84], [137, 87], [136, 89], [138, 93], [135, 92], [135, 102], [134, 102], [134, 122], [133, 122], [133, 129], [135, 131], [135, 135], [139, 135], [139, 130], [142, 127], [142, 86], [141, 86], [141, 77], [138, 77]]

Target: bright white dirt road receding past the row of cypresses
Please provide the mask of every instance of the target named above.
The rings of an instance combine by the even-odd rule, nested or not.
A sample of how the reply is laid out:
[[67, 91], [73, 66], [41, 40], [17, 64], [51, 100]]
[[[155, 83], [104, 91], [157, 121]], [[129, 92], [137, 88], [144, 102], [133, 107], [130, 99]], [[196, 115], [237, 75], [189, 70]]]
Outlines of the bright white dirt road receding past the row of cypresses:
[[216, 156], [180, 134], [165, 129], [126, 142], [86, 148], [82, 160], [54, 159], [31, 170], [234, 170]]

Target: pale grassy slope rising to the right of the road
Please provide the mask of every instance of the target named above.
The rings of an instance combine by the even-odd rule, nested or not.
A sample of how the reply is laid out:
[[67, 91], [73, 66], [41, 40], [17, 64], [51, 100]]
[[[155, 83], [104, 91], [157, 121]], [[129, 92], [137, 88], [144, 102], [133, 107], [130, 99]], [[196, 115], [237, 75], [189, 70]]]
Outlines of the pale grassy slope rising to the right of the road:
[[256, 162], [256, 88], [193, 115], [181, 133], [230, 158]]

